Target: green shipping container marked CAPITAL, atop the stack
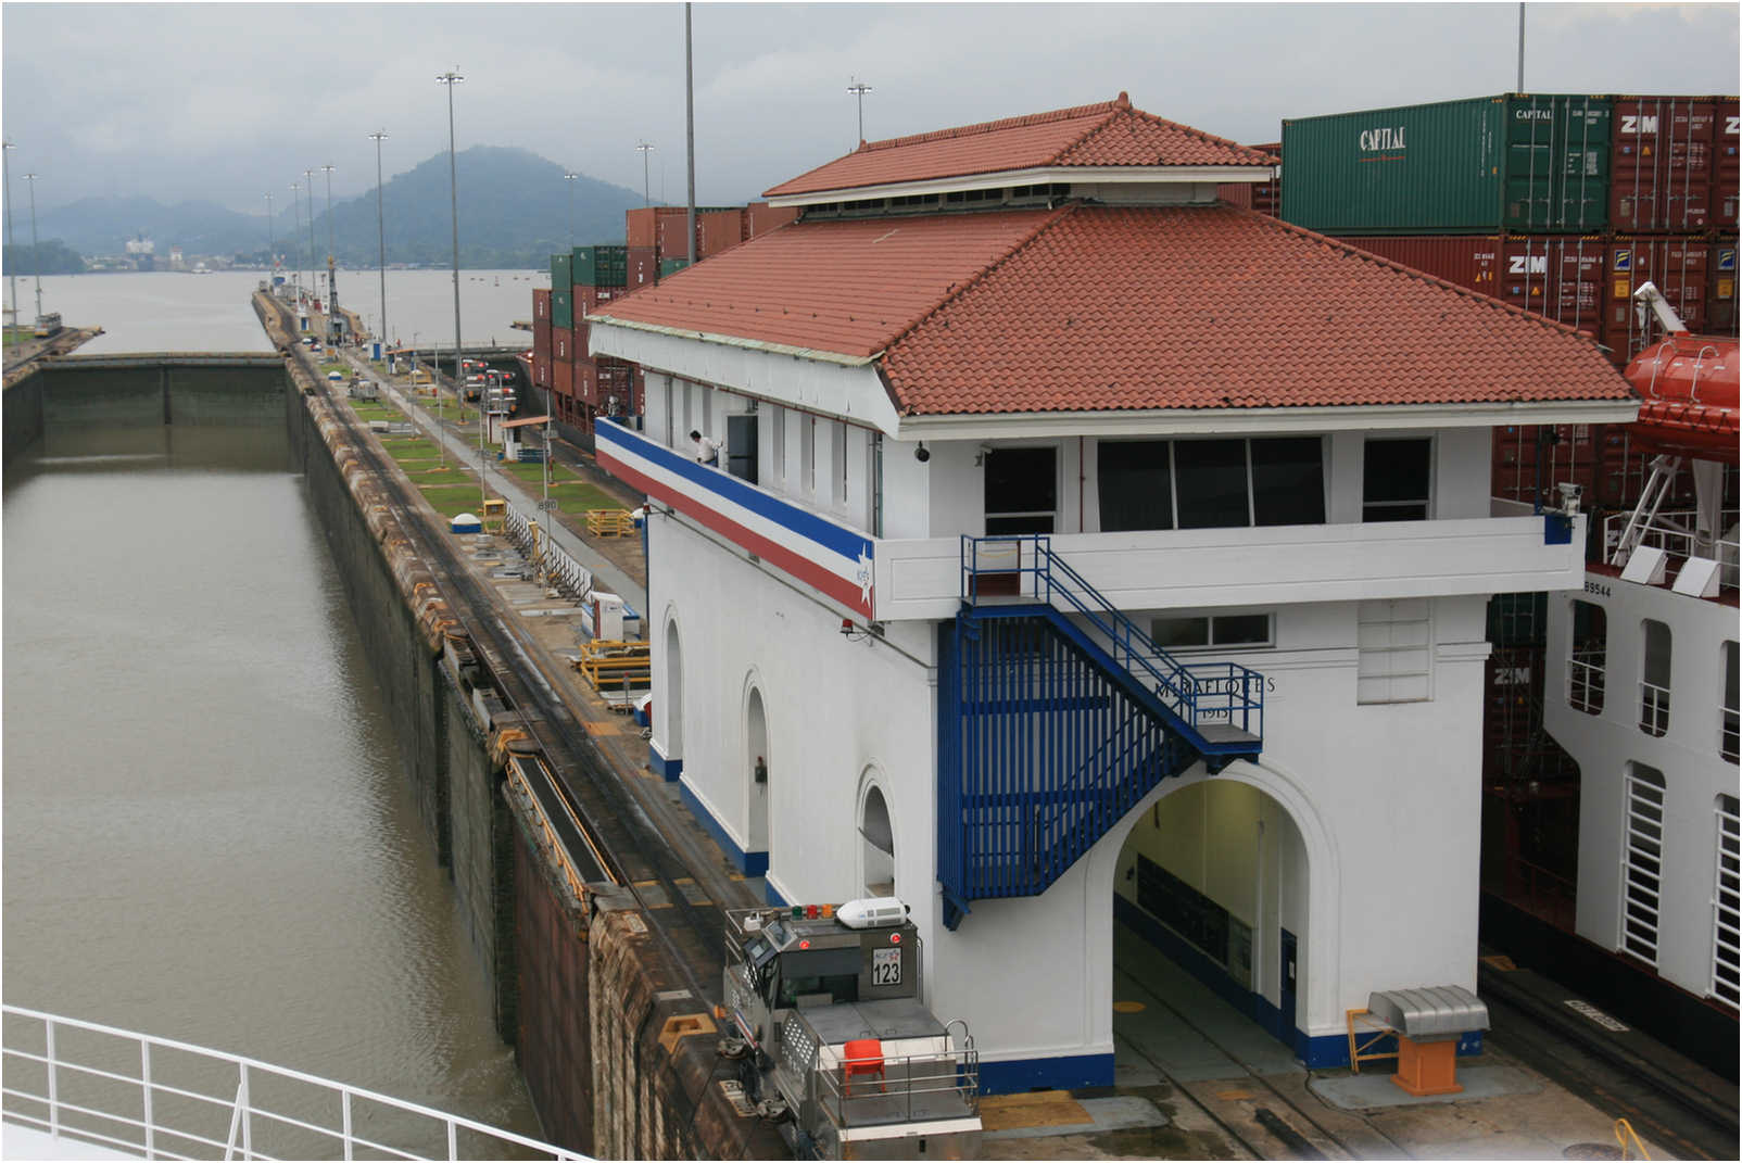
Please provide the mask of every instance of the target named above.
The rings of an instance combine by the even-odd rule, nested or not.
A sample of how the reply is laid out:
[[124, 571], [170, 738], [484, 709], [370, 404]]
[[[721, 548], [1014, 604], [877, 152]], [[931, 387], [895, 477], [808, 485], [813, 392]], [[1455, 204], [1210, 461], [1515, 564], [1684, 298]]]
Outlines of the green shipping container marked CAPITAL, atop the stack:
[[1594, 232], [1610, 103], [1498, 96], [1282, 124], [1282, 218], [1324, 233]]

